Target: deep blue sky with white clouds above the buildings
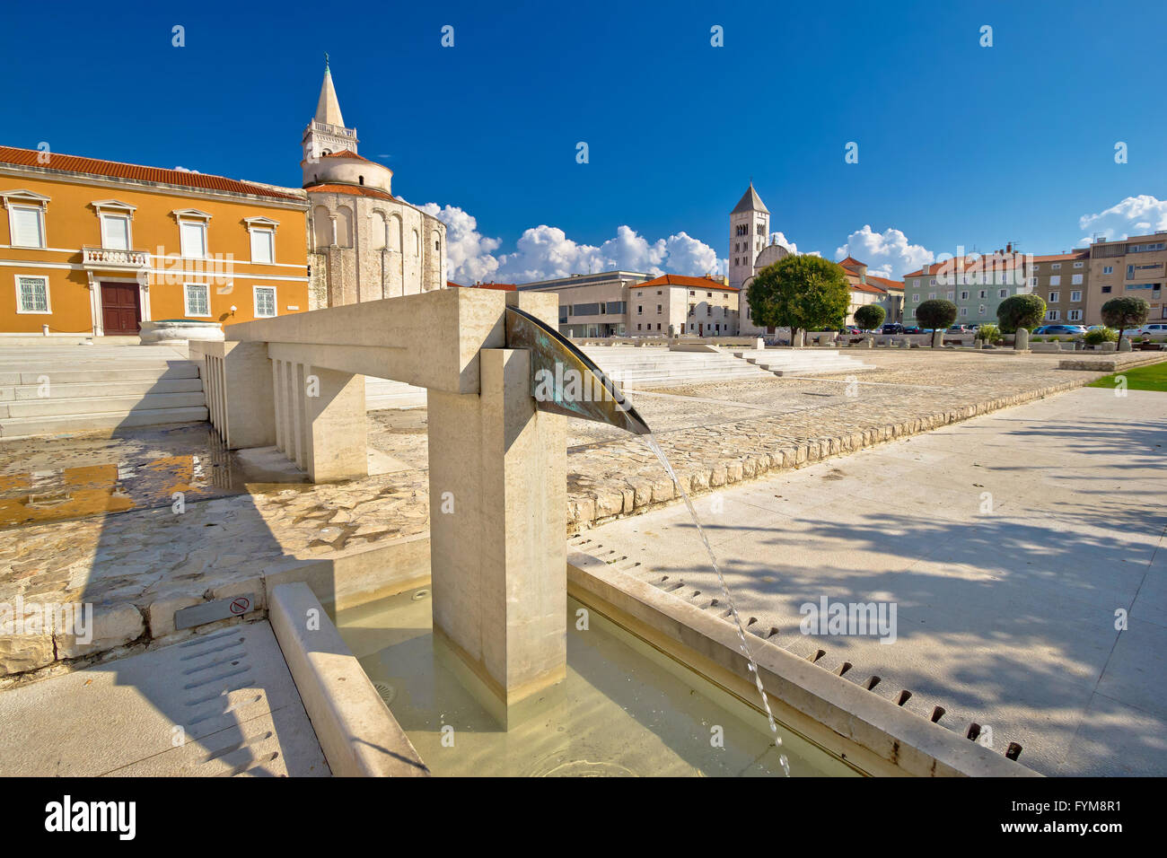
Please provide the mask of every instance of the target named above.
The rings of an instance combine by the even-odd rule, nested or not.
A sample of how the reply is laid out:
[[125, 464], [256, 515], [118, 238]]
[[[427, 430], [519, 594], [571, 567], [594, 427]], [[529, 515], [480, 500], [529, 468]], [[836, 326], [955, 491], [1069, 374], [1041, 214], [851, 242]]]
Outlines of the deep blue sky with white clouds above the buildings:
[[22, 4], [0, 141], [299, 184], [327, 50], [362, 154], [449, 221], [463, 279], [696, 273], [750, 176], [798, 250], [893, 273], [1167, 229], [1167, 5], [750, 6]]

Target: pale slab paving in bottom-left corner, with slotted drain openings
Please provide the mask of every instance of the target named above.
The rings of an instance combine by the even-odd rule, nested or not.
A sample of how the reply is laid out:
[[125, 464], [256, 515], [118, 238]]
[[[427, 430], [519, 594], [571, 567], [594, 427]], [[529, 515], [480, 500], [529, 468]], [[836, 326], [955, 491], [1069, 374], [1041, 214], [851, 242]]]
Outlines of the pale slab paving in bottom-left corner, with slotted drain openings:
[[0, 724], [5, 777], [329, 774], [267, 622], [11, 689]]

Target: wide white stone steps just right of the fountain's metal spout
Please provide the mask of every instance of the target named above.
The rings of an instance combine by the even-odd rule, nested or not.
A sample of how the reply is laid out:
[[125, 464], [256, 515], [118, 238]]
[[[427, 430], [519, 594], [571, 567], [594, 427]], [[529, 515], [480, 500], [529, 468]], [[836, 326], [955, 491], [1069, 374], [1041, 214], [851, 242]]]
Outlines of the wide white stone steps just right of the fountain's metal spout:
[[759, 367], [728, 351], [670, 351], [634, 346], [594, 346], [584, 353], [621, 386], [700, 384], [704, 382], [770, 378]]

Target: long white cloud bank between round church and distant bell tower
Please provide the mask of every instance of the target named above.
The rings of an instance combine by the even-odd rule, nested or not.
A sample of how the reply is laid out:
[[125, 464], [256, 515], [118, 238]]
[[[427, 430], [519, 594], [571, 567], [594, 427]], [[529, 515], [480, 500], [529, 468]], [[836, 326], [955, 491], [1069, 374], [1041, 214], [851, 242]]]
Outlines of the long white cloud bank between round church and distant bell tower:
[[497, 253], [502, 242], [483, 236], [476, 219], [462, 209], [436, 203], [420, 208], [446, 224], [449, 279], [455, 282], [530, 282], [612, 268], [657, 277], [727, 270], [728, 260], [719, 259], [713, 247], [686, 232], [650, 242], [626, 225], [595, 246], [572, 240], [558, 226], [540, 224], [525, 230], [512, 252]]

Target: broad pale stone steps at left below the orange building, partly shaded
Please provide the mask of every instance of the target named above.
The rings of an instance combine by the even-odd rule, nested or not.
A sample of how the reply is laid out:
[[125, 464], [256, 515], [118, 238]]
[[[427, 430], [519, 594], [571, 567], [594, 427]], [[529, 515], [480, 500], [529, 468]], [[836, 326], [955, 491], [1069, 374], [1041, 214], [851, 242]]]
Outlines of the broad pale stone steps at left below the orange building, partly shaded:
[[0, 438], [205, 419], [198, 367], [175, 347], [0, 347]]

